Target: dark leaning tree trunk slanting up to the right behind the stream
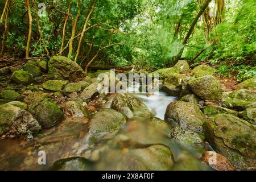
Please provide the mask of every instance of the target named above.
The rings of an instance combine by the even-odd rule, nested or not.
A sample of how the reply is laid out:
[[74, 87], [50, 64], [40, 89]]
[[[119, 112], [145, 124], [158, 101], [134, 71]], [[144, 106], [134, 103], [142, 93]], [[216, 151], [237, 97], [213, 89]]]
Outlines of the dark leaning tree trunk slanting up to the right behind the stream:
[[187, 35], [185, 36], [185, 38], [184, 38], [184, 40], [183, 40], [183, 47], [180, 49], [179, 53], [174, 57], [174, 63], [173, 63], [173, 65], [175, 65], [175, 64], [177, 63], [177, 61], [180, 60], [180, 57], [182, 56], [182, 53], [183, 53], [183, 51], [184, 51], [185, 44], [188, 43], [188, 39], [189, 39], [189, 37], [191, 36], [192, 31], [193, 31], [193, 29], [194, 29], [195, 26], [196, 26], [196, 23], [198, 22], [200, 16], [204, 13], [204, 10], [207, 9], [207, 7], [208, 7], [208, 5], [209, 5], [209, 3], [210, 3], [211, 1], [212, 1], [212, 0], [207, 0], [207, 1], [205, 1], [204, 5], [201, 7], [199, 13], [197, 13], [195, 19], [193, 20], [193, 22], [192, 22], [192, 24], [191, 24], [191, 26], [190, 26], [190, 28], [189, 28], [189, 30], [188, 30]]

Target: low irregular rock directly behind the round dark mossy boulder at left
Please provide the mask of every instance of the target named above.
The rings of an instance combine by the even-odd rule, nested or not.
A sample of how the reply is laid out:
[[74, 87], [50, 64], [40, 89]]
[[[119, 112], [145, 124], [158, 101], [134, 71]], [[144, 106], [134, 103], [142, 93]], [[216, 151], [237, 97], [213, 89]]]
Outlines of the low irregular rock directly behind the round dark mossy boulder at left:
[[[28, 90], [30, 91], [30, 90]], [[26, 102], [27, 104], [32, 104], [36, 100], [40, 100], [42, 98], [49, 98], [51, 94], [49, 93], [44, 93], [42, 91], [39, 92], [23, 92], [22, 95], [24, 96], [23, 101]]]

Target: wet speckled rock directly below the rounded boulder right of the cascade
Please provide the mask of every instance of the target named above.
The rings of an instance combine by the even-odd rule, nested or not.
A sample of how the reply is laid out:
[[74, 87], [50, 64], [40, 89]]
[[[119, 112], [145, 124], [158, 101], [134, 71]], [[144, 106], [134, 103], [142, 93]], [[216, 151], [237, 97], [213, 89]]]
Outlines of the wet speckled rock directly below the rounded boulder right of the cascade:
[[200, 152], [204, 151], [204, 141], [202, 137], [195, 131], [175, 126], [171, 130], [171, 137], [183, 146], [195, 147]]

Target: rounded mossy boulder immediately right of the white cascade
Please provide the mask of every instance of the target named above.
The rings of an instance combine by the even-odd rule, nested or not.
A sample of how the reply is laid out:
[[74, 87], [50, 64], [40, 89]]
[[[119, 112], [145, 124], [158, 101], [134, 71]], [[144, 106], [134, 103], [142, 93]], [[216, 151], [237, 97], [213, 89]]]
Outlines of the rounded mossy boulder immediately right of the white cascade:
[[199, 106], [183, 101], [171, 102], [167, 106], [164, 118], [168, 122], [177, 123], [181, 127], [196, 132], [203, 132], [202, 125], [206, 119]]

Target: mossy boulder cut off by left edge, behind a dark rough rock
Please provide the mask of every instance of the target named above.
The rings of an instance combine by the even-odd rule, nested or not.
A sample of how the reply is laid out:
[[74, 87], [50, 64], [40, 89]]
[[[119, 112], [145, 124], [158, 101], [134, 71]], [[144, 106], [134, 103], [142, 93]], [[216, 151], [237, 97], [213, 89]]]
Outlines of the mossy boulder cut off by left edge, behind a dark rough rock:
[[0, 136], [11, 129], [11, 125], [13, 125], [12, 118], [22, 109], [27, 109], [27, 104], [19, 101], [0, 105]]

